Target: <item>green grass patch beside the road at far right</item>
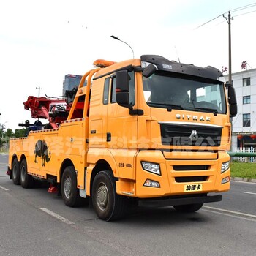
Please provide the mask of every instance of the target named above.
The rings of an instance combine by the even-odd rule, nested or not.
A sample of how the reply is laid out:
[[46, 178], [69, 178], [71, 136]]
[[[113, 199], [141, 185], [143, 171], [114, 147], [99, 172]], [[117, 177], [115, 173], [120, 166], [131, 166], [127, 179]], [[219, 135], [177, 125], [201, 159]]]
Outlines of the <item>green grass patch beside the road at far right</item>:
[[256, 179], [256, 163], [231, 162], [231, 177]]

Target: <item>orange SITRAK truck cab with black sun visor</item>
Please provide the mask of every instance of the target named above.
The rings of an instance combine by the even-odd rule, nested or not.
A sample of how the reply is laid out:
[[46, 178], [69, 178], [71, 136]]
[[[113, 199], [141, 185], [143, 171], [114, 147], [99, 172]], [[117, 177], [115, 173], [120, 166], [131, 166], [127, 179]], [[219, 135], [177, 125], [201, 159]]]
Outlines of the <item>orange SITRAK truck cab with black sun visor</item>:
[[230, 188], [230, 116], [233, 86], [214, 67], [162, 56], [113, 65], [91, 87], [89, 162], [113, 159], [118, 195], [183, 209], [221, 200], [207, 194]]

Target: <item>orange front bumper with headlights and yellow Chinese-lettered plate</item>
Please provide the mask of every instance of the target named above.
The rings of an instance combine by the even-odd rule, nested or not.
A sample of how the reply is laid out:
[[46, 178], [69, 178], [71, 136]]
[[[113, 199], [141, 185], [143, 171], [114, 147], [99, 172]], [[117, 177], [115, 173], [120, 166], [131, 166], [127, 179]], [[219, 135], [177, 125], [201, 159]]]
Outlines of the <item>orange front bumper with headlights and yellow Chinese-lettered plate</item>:
[[[167, 155], [157, 150], [139, 152], [136, 159], [136, 197], [154, 198], [174, 195], [187, 197], [187, 195], [225, 192], [230, 189], [230, 182], [222, 184], [223, 178], [230, 177], [230, 168], [221, 173], [222, 163], [230, 160], [225, 151], [214, 154], [199, 151], [176, 153], [178, 154]], [[140, 164], [142, 161], [158, 163], [161, 175], [143, 170]], [[159, 183], [159, 187], [146, 187], [144, 185], [146, 180]], [[190, 189], [190, 187], [198, 189]]]

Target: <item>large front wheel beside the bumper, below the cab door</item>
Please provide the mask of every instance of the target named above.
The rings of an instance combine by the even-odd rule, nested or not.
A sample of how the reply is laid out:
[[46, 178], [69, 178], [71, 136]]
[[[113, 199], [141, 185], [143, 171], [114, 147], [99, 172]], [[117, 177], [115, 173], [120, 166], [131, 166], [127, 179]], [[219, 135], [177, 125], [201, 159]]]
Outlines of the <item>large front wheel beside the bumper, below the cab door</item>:
[[116, 182], [110, 171], [100, 171], [92, 185], [92, 204], [99, 219], [111, 221], [124, 216], [125, 197], [116, 194]]

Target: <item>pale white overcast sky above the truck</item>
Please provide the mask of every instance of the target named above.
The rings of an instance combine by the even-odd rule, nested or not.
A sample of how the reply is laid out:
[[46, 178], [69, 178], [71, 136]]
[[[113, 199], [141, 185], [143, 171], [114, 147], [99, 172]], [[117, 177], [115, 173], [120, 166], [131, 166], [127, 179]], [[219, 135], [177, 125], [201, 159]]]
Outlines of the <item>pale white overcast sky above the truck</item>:
[[85, 74], [96, 59], [132, 59], [111, 35], [127, 42], [135, 58], [157, 54], [222, 70], [228, 11], [232, 72], [241, 71], [242, 61], [254, 69], [253, 0], [0, 0], [0, 124], [14, 131], [18, 123], [34, 123], [23, 102], [37, 97], [39, 86], [40, 96], [61, 97], [65, 75]]

